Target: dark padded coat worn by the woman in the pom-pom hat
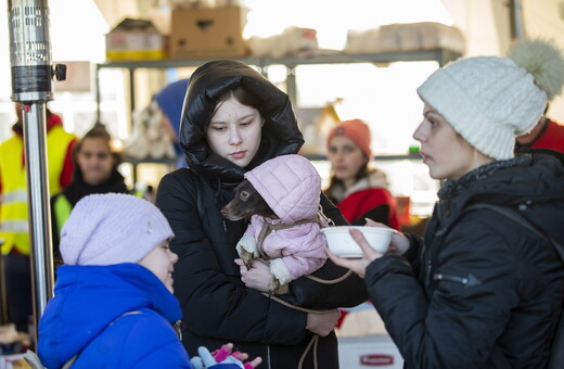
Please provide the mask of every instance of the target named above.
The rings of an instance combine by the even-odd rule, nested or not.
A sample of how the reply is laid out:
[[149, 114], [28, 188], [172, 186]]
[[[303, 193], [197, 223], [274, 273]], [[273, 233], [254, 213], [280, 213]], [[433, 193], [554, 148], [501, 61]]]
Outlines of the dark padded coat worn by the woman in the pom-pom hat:
[[367, 269], [369, 293], [408, 368], [544, 368], [564, 298], [555, 247], [515, 220], [471, 204], [507, 206], [561, 243], [564, 168], [521, 156], [447, 181], [425, 233], [405, 257]]

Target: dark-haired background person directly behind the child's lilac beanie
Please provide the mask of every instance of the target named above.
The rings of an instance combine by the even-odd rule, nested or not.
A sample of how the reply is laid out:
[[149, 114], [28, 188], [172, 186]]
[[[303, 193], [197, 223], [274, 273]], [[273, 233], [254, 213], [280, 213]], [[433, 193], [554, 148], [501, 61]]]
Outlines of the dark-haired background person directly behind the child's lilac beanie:
[[76, 203], [93, 193], [129, 193], [117, 167], [119, 153], [112, 149], [112, 137], [102, 123], [86, 132], [73, 150], [76, 168], [73, 181], [51, 198], [51, 226], [54, 266], [62, 264], [59, 242], [61, 230]]

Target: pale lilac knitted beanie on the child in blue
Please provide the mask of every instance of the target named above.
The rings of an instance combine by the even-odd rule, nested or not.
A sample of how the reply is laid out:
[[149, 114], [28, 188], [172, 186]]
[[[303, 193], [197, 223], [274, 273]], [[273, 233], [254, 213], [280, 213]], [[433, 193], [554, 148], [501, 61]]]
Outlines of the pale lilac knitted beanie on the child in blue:
[[161, 211], [124, 193], [91, 194], [73, 208], [61, 232], [67, 265], [138, 263], [174, 237]]

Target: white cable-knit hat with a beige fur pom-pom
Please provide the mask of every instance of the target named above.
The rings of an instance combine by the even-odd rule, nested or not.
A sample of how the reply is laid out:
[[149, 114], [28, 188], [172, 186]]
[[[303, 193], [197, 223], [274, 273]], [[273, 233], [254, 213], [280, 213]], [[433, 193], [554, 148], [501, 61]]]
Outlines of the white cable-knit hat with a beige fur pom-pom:
[[552, 42], [515, 43], [510, 58], [465, 58], [418, 88], [470, 144], [495, 160], [513, 157], [515, 136], [533, 129], [564, 85], [564, 59]]

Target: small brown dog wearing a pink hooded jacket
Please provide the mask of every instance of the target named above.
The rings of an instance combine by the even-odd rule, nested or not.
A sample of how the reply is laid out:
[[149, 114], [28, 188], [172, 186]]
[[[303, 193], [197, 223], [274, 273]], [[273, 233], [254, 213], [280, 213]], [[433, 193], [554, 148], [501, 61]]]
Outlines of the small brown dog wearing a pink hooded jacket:
[[246, 171], [234, 192], [221, 214], [230, 220], [249, 218], [235, 247], [247, 268], [255, 259], [268, 265], [270, 293], [325, 263], [326, 241], [320, 229], [328, 221], [320, 207], [321, 178], [306, 157], [268, 160]]

